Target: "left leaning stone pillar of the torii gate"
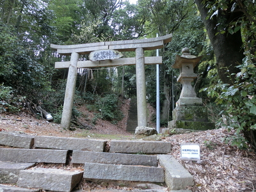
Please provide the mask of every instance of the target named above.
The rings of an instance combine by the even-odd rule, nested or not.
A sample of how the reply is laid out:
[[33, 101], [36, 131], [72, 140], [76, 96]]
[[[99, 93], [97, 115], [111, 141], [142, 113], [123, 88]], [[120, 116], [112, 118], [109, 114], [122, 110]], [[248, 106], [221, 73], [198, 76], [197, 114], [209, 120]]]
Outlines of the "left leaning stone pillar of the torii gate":
[[69, 129], [70, 127], [74, 95], [76, 90], [78, 59], [79, 59], [79, 54], [77, 52], [72, 52], [71, 59], [70, 59], [70, 66], [68, 68], [68, 78], [67, 78], [65, 99], [64, 99], [62, 118], [61, 118], [61, 127], [63, 129]]

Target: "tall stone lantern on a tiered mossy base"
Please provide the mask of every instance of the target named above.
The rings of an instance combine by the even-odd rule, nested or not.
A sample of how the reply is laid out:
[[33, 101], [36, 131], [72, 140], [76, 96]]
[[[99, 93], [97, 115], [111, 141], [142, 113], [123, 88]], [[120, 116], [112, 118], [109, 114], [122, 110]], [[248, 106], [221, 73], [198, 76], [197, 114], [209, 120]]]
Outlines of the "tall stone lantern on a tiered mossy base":
[[196, 97], [191, 82], [197, 77], [193, 68], [196, 67], [202, 56], [190, 54], [188, 48], [182, 49], [182, 56], [177, 55], [173, 68], [179, 68], [177, 79], [182, 84], [180, 98], [176, 108], [172, 111], [173, 120], [168, 122], [169, 129], [208, 130], [214, 129], [214, 123], [209, 122], [207, 108], [203, 106], [202, 99]]

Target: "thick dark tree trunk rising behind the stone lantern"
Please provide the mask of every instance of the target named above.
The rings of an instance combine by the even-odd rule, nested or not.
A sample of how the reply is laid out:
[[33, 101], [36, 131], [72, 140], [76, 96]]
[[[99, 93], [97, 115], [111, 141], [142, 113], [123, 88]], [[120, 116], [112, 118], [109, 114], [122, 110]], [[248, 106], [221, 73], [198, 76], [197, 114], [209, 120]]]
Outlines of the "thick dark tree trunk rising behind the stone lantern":
[[[218, 33], [217, 24], [219, 24], [218, 19], [221, 19], [222, 21], [225, 20], [223, 25], [227, 26], [231, 20], [234, 21], [241, 17], [241, 12], [221, 12], [218, 16], [206, 19], [209, 14], [209, 9], [205, 8], [202, 0], [195, 0], [195, 2], [198, 6], [201, 18], [204, 21], [209, 39], [211, 40], [220, 79], [223, 83], [233, 84], [234, 81], [230, 79], [230, 74], [239, 72], [236, 66], [240, 65], [244, 58], [241, 31], [239, 30], [232, 35], [227, 31], [221, 34]], [[216, 35], [216, 33], [218, 33], [218, 35]]]

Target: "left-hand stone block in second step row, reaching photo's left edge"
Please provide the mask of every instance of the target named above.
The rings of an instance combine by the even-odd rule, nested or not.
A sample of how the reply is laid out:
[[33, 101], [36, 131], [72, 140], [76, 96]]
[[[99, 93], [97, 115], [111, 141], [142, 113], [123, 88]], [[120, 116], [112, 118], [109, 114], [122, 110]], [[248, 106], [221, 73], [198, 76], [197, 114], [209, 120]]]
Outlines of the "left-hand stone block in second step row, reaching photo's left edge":
[[66, 163], [67, 150], [0, 148], [0, 161]]

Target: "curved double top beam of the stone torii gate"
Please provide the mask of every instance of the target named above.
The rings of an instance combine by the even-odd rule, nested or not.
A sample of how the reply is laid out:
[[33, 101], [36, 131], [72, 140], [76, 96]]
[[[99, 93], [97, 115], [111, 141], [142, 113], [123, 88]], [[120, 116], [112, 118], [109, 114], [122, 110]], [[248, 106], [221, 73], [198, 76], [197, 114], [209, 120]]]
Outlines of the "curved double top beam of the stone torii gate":
[[79, 54], [89, 54], [92, 51], [100, 49], [114, 49], [116, 51], [135, 51], [136, 48], [144, 50], [161, 49], [164, 44], [171, 42], [172, 34], [159, 36], [156, 38], [138, 39], [138, 40], [122, 40], [115, 42], [99, 42], [92, 44], [77, 44], [77, 45], [54, 45], [51, 48], [56, 50], [61, 55], [71, 55], [72, 52]]

